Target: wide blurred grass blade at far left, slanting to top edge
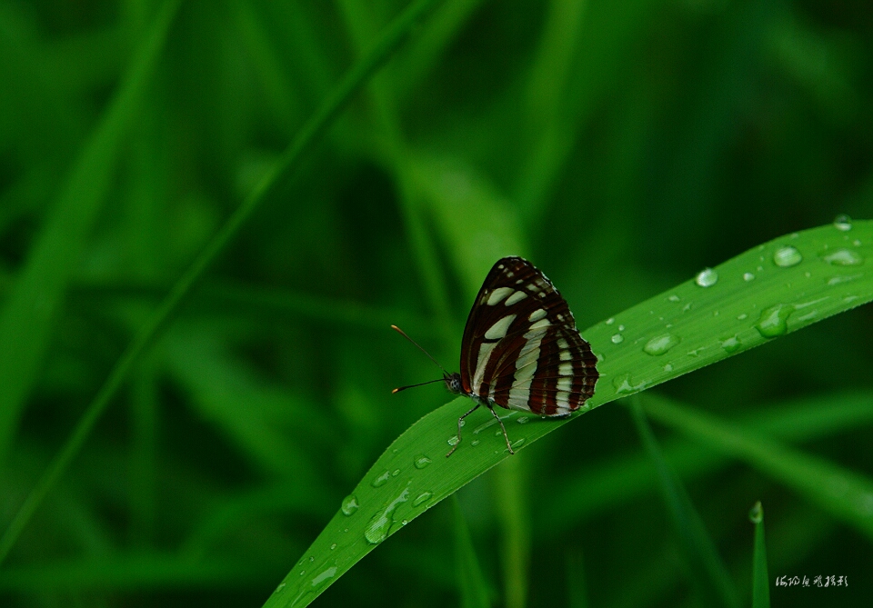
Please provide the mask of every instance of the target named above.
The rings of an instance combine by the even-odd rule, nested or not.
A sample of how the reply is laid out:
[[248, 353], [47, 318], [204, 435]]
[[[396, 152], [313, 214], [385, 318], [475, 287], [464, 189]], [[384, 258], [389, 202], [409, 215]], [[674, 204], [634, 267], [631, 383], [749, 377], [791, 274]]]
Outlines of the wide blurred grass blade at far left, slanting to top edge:
[[169, 0], [157, 15], [124, 82], [76, 158], [0, 311], [0, 463], [8, 454], [51, 339], [70, 274], [105, 202], [118, 148], [134, 123], [179, 4], [179, 0]]

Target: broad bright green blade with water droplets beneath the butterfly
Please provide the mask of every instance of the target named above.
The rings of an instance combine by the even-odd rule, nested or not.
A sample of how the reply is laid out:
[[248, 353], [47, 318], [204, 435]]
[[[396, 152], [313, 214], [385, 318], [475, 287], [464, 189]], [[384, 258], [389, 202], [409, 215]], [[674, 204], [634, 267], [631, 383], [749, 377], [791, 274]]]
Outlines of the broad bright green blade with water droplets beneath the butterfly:
[[[799, 259], [785, 253], [789, 245]], [[813, 228], [718, 265], [715, 283], [712, 273], [700, 281], [706, 287], [689, 280], [588, 328], [583, 334], [598, 354], [601, 377], [597, 394], [570, 420], [873, 300], [873, 273], [860, 267], [871, 254], [873, 221], [856, 222], [848, 233], [833, 225]], [[468, 408], [458, 397], [389, 445], [265, 606], [311, 602], [405, 523], [507, 458], [487, 411], [467, 418], [464, 444], [451, 459], [443, 457], [457, 416]], [[569, 422], [517, 412], [501, 417], [517, 449]]]

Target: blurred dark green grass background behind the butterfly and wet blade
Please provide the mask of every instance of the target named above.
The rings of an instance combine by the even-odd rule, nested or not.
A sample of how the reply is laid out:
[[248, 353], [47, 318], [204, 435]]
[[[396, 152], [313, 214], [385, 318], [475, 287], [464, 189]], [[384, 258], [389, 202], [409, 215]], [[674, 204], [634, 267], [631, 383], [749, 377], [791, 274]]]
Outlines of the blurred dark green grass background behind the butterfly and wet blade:
[[[146, 315], [406, 3], [183, 2], [125, 88], [163, 5], [0, 4], [3, 529]], [[442, 2], [186, 296], [0, 566], [0, 603], [261, 605], [448, 400], [389, 394], [437, 369], [388, 324], [455, 369], [500, 255], [529, 257], [585, 328], [780, 234], [871, 218], [871, 108], [861, 0]], [[726, 418], [869, 405], [871, 343], [863, 306], [656, 392]], [[869, 422], [807, 431], [799, 449], [873, 475]], [[496, 471], [458, 493], [495, 605], [705, 605], [627, 408], [516, 459], [517, 509]], [[705, 473], [684, 483], [742, 603], [761, 500], [771, 579], [851, 583], [771, 588], [773, 605], [868, 605], [869, 537], [743, 463]], [[454, 522], [440, 503], [316, 605], [456, 604]]]

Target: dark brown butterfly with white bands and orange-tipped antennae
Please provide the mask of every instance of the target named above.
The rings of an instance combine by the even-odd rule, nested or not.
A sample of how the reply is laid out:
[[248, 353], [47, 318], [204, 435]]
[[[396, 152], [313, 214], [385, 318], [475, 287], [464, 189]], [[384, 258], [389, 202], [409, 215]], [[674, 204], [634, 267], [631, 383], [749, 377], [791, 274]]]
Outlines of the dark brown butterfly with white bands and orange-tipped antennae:
[[[396, 325], [391, 327], [421, 348]], [[509, 454], [515, 454], [495, 405], [566, 417], [594, 394], [599, 376], [597, 356], [579, 335], [567, 301], [534, 264], [516, 256], [497, 260], [479, 289], [461, 340], [460, 373], [439, 367], [442, 378], [393, 392], [442, 381], [452, 393], [476, 403], [457, 419], [457, 442], [447, 457], [461, 443], [464, 419], [483, 405], [497, 418]]]

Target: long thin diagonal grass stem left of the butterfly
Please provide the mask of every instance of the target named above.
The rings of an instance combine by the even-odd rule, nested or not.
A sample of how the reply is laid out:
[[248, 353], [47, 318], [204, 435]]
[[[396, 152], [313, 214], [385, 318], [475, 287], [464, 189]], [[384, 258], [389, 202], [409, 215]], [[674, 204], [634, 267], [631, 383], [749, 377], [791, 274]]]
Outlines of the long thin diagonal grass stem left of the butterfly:
[[27, 496], [15, 518], [0, 538], [0, 563], [3, 563], [6, 555], [15, 544], [21, 531], [35, 513], [36, 508], [45, 499], [45, 494], [55, 485], [57, 479], [66, 470], [66, 467], [78, 454], [85, 439], [94, 428], [97, 420], [105, 411], [109, 401], [115, 396], [118, 388], [124, 383], [135, 363], [146, 349], [161, 334], [169, 323], [179, 304], [186, 298], [206, 270], [215, 262], [219, 254], [226, 250], [228, 244], [234, 239], [240, 228], [246, 224], [246, 220], [266, 200], [276, 187], [292, 174], [296, 167], [334, 122], [336, 116], [346, 106], [355, 92], [376, 73], [376, 70], [385, 63], [386, 59], [404, 42], [406, 36], [423, 19], [427, 12], [432, 9], [439, 0], [417, 0], [409, 5], [403, 13], [386, 27], [384, 33], [376, 41], [376, 44], [368, 53], [362, 56], [343, 79], [336, 85], [333, 92], [327, 96], [325, 102], [304, 125], [294, 142], [279, 157], [276, 164], [266, 173], [261, 182], [246, 197], [234, 214], [221, 227], [212, 240], [206, 244], [204, 250], [197, 255], [194, 262], [186, 269], [179, 278], [170, 293], [151, 314], [134, 339], [128, 345], [125, 353], [115, 364], [105, 384], [96, 394], [94, 401], [88, 405], [82, 418], [75, 425], [73, 434], [67, 439], [61, 451], [55, 455], [34, 490]]

